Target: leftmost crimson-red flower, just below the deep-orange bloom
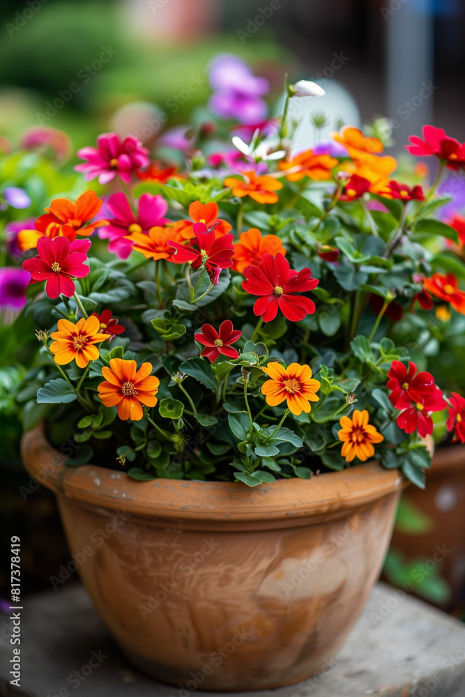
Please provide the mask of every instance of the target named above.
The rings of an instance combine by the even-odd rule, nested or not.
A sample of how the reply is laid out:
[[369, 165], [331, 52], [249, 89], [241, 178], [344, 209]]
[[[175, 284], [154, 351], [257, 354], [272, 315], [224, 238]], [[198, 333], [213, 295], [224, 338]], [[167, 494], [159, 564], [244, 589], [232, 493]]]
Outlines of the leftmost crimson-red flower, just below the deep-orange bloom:
[[60, 293], [70, 298], [75, 292], [74, 278], [84, 278], [89, 266], [84, 264], [91, 240], [75, 240], [66, 237], [41, 237], [37, 241], [38, 256], [26, 259], [22, 268], [31, 273], [29, 283], [47, 281], [45, 292], [49, 298], [58, 298]]

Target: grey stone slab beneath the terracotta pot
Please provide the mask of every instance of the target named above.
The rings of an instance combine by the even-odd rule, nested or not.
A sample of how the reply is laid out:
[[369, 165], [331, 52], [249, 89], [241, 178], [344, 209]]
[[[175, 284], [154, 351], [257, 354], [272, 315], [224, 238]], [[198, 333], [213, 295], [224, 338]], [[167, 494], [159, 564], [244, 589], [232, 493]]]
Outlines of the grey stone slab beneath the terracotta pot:
[[[0, 613], [1, 697], [198, 697], [154, 682], [123, 657], [75, 584], [24, 597], [21, 688], [10, 685], [8, 614]], [[93, 667], [92, 667], [93, 666]], [[218, 693], [224, 694], [224, 693]], [[243, 696], [245, 693], [241, 693]], [[264, 697], [465, 697], [465, 627], [402, 591], [379, 584], [333, 666]]]

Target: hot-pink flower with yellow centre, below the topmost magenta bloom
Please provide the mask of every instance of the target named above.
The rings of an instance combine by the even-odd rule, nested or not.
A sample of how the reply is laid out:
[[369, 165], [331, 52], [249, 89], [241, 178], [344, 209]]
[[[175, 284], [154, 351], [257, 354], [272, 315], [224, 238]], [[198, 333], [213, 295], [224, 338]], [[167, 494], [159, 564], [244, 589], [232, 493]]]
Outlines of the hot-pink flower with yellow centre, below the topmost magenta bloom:
[[148, 233], [151, 227], [163, 227], [167, 218], [162, 217], [168, 210], [168, 204], [161, 196], [143, 194], [139, 199], [137, 215], [132, 211], [124, 194], [113, 194], [107, 201], [107, 210], [115, 217], [108, 226], [99, 230], [101, 240], [110, 240], [108, 251], [117, 254], [120, 259], [127, 259], [132, 250], [132, 241], [125, 237], [133, 233]]

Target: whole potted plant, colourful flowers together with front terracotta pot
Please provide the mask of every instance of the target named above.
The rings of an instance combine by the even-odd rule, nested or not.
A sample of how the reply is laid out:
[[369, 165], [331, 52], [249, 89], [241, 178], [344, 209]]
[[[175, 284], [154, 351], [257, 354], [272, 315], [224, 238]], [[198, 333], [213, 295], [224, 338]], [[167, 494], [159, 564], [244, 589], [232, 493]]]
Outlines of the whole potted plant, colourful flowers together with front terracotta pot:
[[[424, 485], [432, 415], [449, 408], [462, 436], [434, 377], [383, 336], [392, 303], [425, 307], [427, 279], [449, 270], [437, 182], [393, 180], [358, 128], [292, 153], [289, 101], [323, 92], [307, 81], [286, 80], [281, 121], [236, 123], [236, 150], [211, 153], [238, 109], [228, 85], [211, 103], [227, 102], [223, 121], [186, 129], [183, 169], [102, 135], [77, 169], [122, 190], [105, 208], [92, 191], [54, 200], [19, 240], [36, 247], [22, 266], [39, 339], [24, 464], [56, 492], [123, 651], [187, 689], [328, 665], [402, 487]], [[440, 129], [416, 140], [441, 169], [465, 164]]]

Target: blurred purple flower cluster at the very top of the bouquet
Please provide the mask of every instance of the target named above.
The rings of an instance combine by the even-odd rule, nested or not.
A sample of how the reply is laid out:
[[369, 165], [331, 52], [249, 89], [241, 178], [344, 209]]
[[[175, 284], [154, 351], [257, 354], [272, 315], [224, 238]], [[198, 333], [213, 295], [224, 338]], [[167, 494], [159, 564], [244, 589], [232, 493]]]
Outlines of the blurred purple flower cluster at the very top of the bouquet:
[[238, 56], [220, 54], [213, 59], [209, 79], [215, 90], [208, 102], [213, 114], [240, 123], [266, 118], [268, 107], [262, 96], [268, 93], [270, 84], [264, 77], [255, 77]]

